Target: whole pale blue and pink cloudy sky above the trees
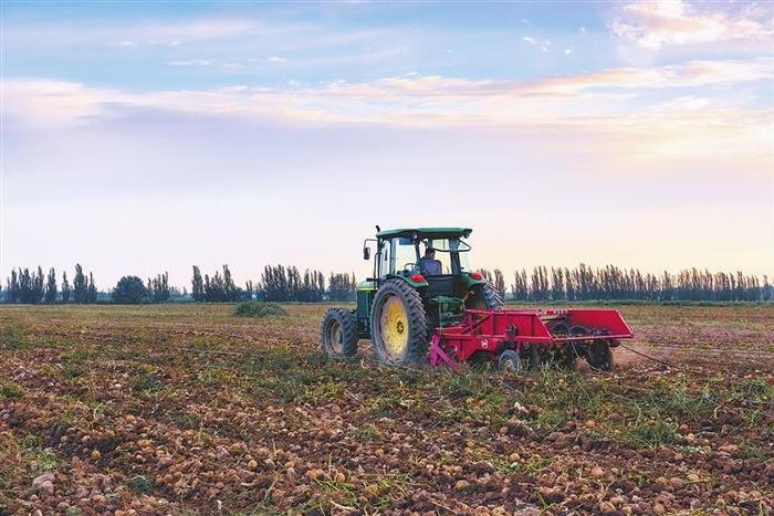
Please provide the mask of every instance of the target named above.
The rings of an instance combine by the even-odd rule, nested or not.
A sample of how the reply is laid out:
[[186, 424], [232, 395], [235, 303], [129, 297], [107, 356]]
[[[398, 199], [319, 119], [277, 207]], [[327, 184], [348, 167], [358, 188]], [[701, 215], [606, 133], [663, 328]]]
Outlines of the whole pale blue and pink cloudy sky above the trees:
[[774, 276], [774, 3], [0, 4], [0, 277], [228, 263]]

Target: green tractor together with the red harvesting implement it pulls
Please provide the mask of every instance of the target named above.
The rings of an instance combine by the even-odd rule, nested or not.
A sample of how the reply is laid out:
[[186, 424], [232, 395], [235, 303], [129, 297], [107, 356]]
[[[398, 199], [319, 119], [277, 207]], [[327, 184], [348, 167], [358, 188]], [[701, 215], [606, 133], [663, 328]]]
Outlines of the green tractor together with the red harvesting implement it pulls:
[[354, 357], [370, 339], [378, 360], [458, 369], [484, 359], [501, 370], [543, 361], [611, 371], [613, 348], [634, 335], [617, 310], [599, 308], [503, 309], [498, 289], [468, 263], [469, 228], [381, 231], [366, 239], [373, 277], [357, 284], [353, 310], [331, 308], [321, 343], [333, 358]]

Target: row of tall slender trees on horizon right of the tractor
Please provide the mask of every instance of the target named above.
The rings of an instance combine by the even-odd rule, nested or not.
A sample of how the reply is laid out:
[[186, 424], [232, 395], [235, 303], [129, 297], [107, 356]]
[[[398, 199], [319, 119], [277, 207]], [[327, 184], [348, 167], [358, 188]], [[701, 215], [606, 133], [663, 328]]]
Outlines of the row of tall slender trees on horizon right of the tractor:
[[[505, 281], [500, 270], [485, 275], [502, 295]], [[615, 265], [593, 268], [580, 264], [574, 268], [536, 266], [514, 273], [511, 284], [514, 301], [774, 301], [768, 277], [735, 273], [683, 270], [657, 275]]]

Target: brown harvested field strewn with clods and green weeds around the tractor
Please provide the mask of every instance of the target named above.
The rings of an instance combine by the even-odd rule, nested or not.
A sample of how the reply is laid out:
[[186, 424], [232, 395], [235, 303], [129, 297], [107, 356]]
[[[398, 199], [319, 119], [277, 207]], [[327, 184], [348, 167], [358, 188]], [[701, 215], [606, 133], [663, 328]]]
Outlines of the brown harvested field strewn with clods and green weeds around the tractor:
[[327, 361], [327, 307], [0, 307], [0, 514], [774, 509], [771, 306], [616, 306], [668, 365], [505, 377]]

